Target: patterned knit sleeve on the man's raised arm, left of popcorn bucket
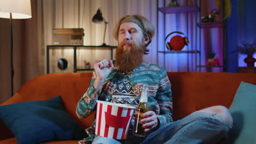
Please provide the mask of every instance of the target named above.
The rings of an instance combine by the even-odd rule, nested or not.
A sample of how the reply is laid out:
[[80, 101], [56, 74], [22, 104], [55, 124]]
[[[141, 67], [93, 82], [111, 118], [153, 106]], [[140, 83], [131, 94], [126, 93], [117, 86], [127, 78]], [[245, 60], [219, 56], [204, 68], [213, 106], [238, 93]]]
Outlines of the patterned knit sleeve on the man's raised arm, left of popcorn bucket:
[[98, 99], [98, 95], [100, 92], [92, 86], [96, 78], [95, 71], [92, 74], [92, 79], [89, 88], [84, 93], [82, 98], [78, 101], [77, 104], [77, 116], [79, 118], [85, 118], [89, 116], [92, 112], [95, 111], [96, 100]]

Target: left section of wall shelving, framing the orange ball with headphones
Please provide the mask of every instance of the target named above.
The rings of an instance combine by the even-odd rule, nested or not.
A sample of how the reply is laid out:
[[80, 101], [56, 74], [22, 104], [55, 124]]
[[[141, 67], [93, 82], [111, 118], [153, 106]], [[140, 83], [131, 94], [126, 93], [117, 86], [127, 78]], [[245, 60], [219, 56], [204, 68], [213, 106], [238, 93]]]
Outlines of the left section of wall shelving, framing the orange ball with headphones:
[[[164, 2], [164, 4], [165, 4], [165, 2]], [[158, 11], [161, 11], [161, 13], [164, 14], [164, 23], [165, 23], [165, 15], [166, 14], [178, 14], [178, 13], [195, 13], [195, 17], [196, 17], [195, 21], [197, 22], [197, 11], [199, 11], [199, 7], [197, 7], [197, 4], [182, 5], [180, 7], [162, 7], [162, 8], [158, 8]], [[187, 16], [187, 19], [188, 19], [188, 16]], [[158, 20], [158, 23], [159, 23], [159, 20]], [[166, 35], [165, 31], [164, 31], [164, 35]], [[197, 30], [196, 30], [196, 37], [197, 37]], [[166, 44], [164, 44], [164, 46], [165, 45]], [[197, 44], [195, 44], [195, 49], [194, 50], [191, 49], [191, 47], [188, 47], [188, 50], [181, 50], [181, 51], [159, 51], [158, 50], [158, 53], [164, 53], [164, 68], [166, 68], [165, 55], [168, 54], [168, 53], [170, 53], [170, 54], [172, 54], [172, 53], [194, 53], [194, 55], [195, 55], [195, 65], [197, 65], [197, 55], [198, 54], [200, 55], [200, 51], [197, 50]], [[195, 70], [196, 70], [196, 68], [195, 68]]]

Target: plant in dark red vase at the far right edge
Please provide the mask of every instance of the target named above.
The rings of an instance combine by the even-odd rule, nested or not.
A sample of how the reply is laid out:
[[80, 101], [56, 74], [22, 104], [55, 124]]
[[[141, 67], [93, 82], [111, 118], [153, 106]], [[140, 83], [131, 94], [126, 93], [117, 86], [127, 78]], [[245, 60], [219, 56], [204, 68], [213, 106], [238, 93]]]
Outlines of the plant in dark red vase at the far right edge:
[[243, 60], [245, 63], [247, 63], [247, 67], [254, 67], [254, 62], [256, 59], [253, 57], [253, 54], [256, 52], [256, 39], [254, 39], [253, 43], [242, 42], [236, 48], [237, 52], [247, 55], [247, 57]]

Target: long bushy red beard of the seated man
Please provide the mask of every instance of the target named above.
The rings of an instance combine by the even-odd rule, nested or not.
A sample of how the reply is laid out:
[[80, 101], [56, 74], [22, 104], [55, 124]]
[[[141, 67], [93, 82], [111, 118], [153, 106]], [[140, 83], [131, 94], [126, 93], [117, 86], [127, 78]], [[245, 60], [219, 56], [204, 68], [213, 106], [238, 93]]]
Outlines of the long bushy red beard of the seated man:
[[[124, 43], [131, 45], [130, 50], [123, 48]], [[121, 71], [132, 70], [143, 62], [144, 44], [136, 45], [133, 41], [121, 41], [117, 47], [115, 59]]]

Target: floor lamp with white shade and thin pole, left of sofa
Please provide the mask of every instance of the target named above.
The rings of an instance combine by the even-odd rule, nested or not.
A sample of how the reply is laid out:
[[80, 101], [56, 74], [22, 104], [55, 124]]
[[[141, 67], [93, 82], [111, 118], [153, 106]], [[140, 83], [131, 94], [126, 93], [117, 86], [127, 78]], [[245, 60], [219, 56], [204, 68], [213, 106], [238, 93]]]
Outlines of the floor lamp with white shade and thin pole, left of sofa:
[[1, 0], [0, 17], [10, 19], [10, 72], [11, 96], [13, 96], [13, 26], [12, 19], [29, 19], [31, 15], [30, 0]]

